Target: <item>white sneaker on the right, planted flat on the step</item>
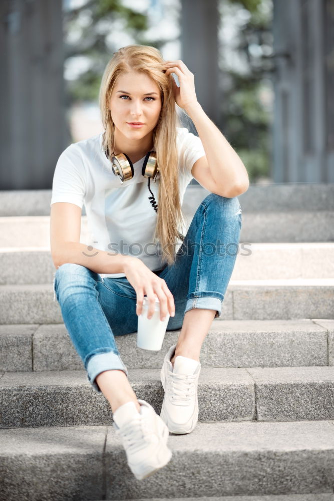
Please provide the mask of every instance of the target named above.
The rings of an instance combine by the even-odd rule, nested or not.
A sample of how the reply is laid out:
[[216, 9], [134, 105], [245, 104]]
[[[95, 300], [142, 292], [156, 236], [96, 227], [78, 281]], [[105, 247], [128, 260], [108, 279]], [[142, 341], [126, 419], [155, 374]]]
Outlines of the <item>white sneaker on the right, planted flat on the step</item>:
[[160, 373], [165, 390], [160, 417], [171, 433], [182, 435], [190, 433], [197, 424], [197, 387], [201, 364], [191, 358], [178, 356], [173, 369], [170, 359], [175, 348], [176, 345], [173, 345], [169, 349]]

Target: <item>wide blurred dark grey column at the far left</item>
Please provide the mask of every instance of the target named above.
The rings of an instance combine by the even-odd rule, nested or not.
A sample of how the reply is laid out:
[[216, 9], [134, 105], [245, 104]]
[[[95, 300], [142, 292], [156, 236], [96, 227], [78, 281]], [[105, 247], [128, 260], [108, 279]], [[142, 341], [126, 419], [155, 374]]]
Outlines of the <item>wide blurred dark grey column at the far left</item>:
[[0, 189], [51, 188], [67, 145], [61, 0], [0, 2]]

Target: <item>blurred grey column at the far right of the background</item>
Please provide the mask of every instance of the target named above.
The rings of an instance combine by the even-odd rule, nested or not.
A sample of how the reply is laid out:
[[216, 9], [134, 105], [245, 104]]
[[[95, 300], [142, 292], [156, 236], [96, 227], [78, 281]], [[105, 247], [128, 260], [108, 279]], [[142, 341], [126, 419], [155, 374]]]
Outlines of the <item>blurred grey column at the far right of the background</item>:
[[334, 2], [274, 0], [275, 182], [334, 182]]

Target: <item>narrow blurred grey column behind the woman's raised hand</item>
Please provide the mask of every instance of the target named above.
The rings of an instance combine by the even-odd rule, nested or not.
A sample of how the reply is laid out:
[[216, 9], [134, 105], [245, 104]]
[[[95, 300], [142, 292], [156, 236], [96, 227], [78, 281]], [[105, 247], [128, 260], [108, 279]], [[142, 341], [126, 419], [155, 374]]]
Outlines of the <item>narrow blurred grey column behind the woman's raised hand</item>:
[[217, 126], [220, 120], [218, 23], [217, 0], [182, 0], [181, 59], [195, 75], [197, 100]]

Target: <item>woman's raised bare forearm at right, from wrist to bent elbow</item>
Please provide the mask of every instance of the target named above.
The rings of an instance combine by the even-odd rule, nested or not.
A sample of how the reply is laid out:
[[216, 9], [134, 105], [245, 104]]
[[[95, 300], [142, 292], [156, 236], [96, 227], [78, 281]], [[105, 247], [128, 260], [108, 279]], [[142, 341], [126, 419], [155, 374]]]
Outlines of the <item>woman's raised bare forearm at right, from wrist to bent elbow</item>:
[[186, 112], [193, 121], [198, 136], [202, 141], [210, 172], [218, 186], [247, 189], [248, 173], [241, 158], [234, 151], [220, 130], [206, 115], [199, 103], [188, 107]]

